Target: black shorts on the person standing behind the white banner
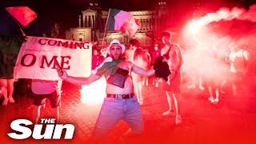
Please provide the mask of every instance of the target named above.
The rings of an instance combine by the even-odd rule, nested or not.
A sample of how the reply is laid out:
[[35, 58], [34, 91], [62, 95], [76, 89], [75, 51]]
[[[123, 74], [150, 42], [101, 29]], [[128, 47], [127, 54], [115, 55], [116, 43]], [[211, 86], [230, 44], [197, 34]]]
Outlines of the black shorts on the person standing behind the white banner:
[[34, 94], [34, 106], [42, 106], [46, 103], [46, 98], [49, 98], [51, 108], [58, 107], [61, 102], [61, 96], [54, 90], [51, 94]]

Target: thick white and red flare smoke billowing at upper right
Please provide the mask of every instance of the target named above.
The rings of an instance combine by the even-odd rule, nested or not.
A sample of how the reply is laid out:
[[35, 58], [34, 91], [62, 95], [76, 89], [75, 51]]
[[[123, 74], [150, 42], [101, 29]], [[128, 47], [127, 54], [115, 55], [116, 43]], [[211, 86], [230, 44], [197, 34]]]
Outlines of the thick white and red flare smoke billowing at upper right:
[[[198, 18], [198, 32], [189, 35], [186, 32], [186, 46], [190, 51], [183, 51], [185, 70], [197, 69], [201, 76], [213, 81], [219, 77], [229, 77], [229, 64], [224, 59], [231, 46], [241, 46], [251, 55], [255, 53], [256, 42], [256, 4], [249, 10], [234, 7], [221, 8], [215, 13], [208, 13]], [[193, 40], [191, 40], [193, 39]], [[208, 49], [208, 50], [207, 50]], [[194, 54], [195, 56], [193, 56]], [[198, 55], [199, 54], [199, 55]], [[198, 56], [197, 56], [198, 55]], [[251, 57], [252, 58], [252, 57]], [[191, 67], [192, 66], [192, 67]], [[213, 70], [213, 66], [215, 66]], [[193, 75], [192, 75], [193, 76]], [[216, 78], [213, 78], [216, 76]]]

